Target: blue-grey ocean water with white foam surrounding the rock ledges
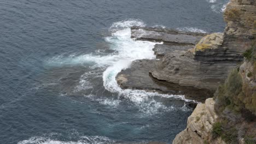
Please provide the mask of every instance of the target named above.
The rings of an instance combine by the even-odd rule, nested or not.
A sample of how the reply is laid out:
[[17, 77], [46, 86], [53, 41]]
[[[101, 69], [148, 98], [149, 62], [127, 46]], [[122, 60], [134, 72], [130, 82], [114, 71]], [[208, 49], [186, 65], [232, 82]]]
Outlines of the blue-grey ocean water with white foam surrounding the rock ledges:
[[131, 26], [222, 32], [227, 0], [0, 1], [0, 144], [171, 143], [183, 95], [121, 89], [115, 75], [154, 59]]

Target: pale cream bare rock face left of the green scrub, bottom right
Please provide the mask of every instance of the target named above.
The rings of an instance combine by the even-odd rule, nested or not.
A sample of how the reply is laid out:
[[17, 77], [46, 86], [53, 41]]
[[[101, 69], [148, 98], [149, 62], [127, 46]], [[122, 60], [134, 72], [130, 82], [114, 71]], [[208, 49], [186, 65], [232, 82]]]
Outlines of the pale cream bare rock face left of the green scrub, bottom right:
[[205, 144], [225, 142], [217, 139], [212, 140], [213, 124], [217, 122], [218, 116], [214, 111], [215, 101], [212, 98], [206, 99], [205, 104], [197, 104], [196, 109], [188, 118], [187, 128], [176, 135], [173, 144]]

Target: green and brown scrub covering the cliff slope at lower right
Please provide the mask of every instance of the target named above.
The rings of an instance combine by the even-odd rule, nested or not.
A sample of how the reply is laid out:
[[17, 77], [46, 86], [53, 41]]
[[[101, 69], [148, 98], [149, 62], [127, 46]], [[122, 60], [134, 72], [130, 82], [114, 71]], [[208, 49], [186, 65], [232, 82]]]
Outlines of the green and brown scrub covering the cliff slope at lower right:
[[253, 45], [243, 53], [243, 64], [230, 72], [215, 93], [219, 121], [213, 124], [213, 138], [221, 137], [226, 143], [256, 143], [255, 50]]

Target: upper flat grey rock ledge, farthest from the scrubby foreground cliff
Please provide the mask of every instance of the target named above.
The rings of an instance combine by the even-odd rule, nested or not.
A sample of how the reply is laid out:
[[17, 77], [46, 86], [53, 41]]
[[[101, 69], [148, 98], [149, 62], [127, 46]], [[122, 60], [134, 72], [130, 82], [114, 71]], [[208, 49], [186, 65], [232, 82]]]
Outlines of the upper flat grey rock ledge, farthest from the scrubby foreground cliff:
[[163, 42], [163, 44], [156, 44], [153, 49], [156, 58], [162, 58], [166, 53], [176, 50], [193, 49], [205, 35], [207, 34], [183, 32], [168, 28], [131, 27], [131, 38]]

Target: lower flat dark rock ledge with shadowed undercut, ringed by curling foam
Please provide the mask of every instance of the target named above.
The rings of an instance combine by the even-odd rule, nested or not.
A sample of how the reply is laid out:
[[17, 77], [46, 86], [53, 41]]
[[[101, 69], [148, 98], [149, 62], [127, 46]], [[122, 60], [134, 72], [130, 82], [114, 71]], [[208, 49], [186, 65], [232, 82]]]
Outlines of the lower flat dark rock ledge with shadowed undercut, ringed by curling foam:
[[194, 87], [179, 86], [176, 83], [160, 81], [149, 73], [157, 67], [159, 61], [156, 59], [140, 59], [133, 61], [129, 68], [122, 70], [116, 80], [121, 88], [142, 89], [146, 91], [157, 91], [164, 94], [182, 94], [186, 99], [196, 99], [203, 102], [212, 97], [213, 91], [208, 89], [197, 89]]

